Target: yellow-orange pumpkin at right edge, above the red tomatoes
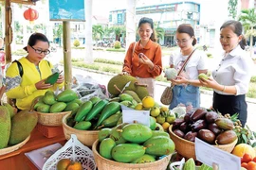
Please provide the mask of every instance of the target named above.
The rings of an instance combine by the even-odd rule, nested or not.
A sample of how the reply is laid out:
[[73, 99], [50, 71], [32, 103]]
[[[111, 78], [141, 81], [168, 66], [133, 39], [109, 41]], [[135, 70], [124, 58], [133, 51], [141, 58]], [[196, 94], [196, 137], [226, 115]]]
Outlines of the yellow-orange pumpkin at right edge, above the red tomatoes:
[[237, 144], [232, 151], [232, 154], [238, 157], [243, 157], [245, 153], [249, 154], [251, 158], [255, 157], [255, 150], [249, 144]]

